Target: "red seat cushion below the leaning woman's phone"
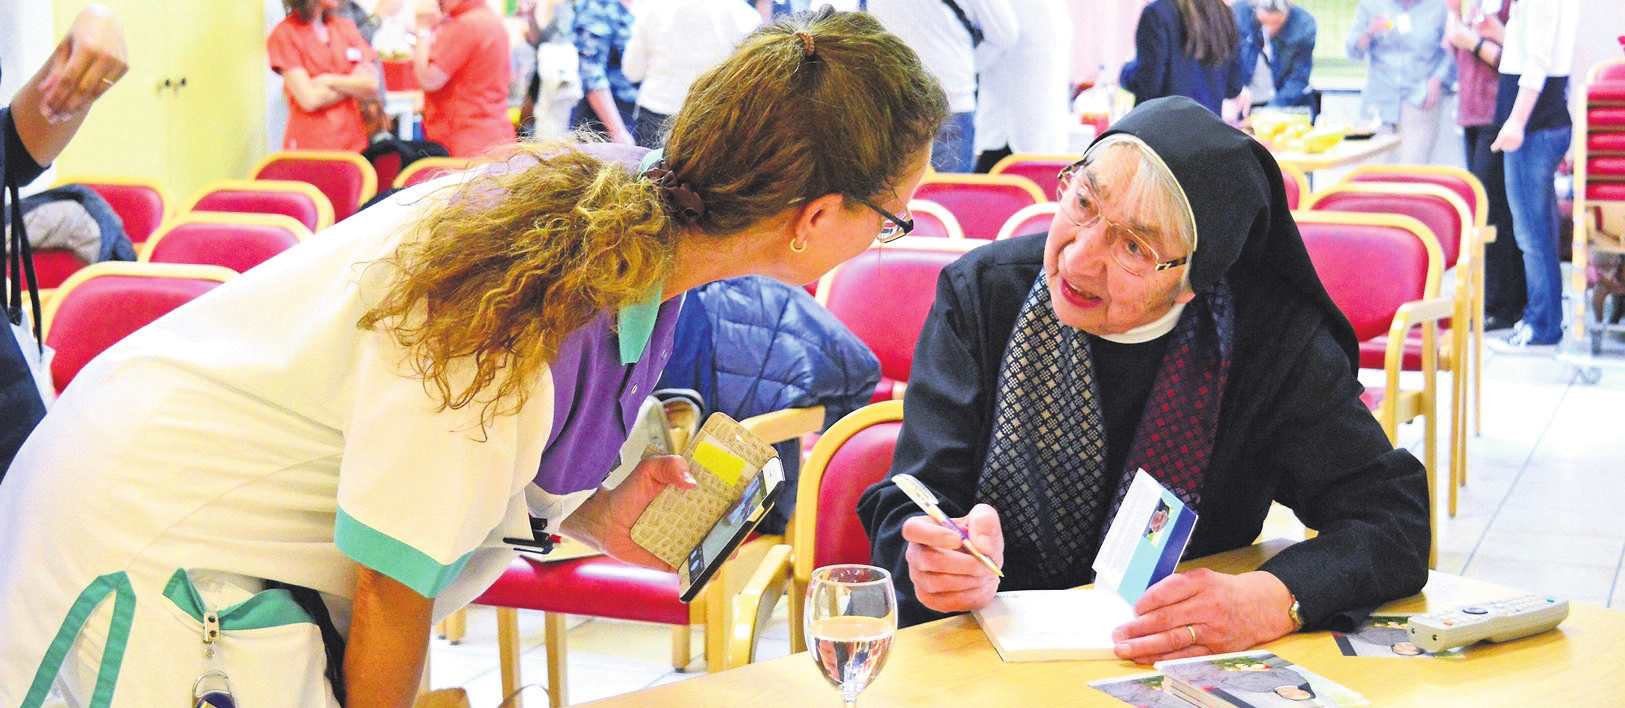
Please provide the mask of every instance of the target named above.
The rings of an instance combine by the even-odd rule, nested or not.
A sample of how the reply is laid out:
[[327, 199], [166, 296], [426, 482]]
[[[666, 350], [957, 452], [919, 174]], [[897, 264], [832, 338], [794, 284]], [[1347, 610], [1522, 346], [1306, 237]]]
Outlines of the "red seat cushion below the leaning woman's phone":
[[514, 559], [474, 604], [585, 614], [668, 625], [689, 624], [678, 575], [595, 555], [541, 562]]

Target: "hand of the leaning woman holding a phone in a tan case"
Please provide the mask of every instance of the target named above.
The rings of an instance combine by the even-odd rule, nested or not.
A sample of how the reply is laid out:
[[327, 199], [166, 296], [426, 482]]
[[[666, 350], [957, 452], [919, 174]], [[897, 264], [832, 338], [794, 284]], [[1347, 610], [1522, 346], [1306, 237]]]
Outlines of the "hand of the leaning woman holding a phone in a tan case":
[[673, 570], [632, 541], [632, 525], [666, 487], [694, 487], [687, 463], [674, 455], [645, 458], [619, 487], [593, 492], [575, 513], [564, 518], [559, 533], [634, 565]]

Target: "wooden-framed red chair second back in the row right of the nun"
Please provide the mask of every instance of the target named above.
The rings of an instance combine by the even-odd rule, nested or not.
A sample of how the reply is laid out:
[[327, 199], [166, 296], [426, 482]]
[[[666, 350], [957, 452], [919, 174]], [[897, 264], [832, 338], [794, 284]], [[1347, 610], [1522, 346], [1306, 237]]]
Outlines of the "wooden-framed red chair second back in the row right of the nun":
[[[1467, 474], [1467, 382], [1477, 377], [1479, 370], [1479, 359], [1472, 356], [1471, 323], [1476, 312], [1484, 312], [1484, 281], [1477, 278], [1482, 273], [1482, 260], [1476, 258], [1480, 252], [1472, 234], [1484, 226], [1476, 221], [1456, 192], [1432, 182], [1342, 182], [1310, 195], [1305, 208], [1412, 216], [1438, 240], [1443, 266], [1454, 268], [1451, 320], [1450, 325], [1443, 325], [1445, 336], [1435, 351], [1438, 367], [1451, 373], [1450, 513], [1454, 515], [1456, 487], [1466, 484]], [[1404, 343], [1404, 370], [1422, 370], [1422, 348], [1420, 331], [1409, 331]], [[1362, 365], [1380, 369], [1386, 351], [1384, 338], [1362, 343]]]

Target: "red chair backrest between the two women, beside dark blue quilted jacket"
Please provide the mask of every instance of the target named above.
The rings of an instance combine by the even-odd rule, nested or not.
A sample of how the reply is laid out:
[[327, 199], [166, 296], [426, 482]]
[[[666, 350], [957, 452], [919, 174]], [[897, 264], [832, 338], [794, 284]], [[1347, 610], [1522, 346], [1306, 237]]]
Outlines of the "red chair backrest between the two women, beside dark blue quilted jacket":
[[975, 239], [915, 239], [876, 244], [817, 283], [817, 300], [881, 360], [873, 401], [902, 398], [915, 341], [936, 300], [942, 266], [982, 245]]

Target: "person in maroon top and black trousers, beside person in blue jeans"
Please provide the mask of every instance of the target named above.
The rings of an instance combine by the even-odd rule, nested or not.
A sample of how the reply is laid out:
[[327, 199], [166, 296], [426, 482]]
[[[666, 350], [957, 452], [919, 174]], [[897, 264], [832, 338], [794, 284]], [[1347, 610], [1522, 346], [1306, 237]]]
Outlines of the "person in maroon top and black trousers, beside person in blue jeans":
[[1484, 183], [1490, 201], [1488, 222], [1495, 240], [1484, 245], [1484, 330], [1506, 330], [1523, 318], [1529, 291], [1524, 284], [1523, 250], [1506, 205], [1506, 171], [1500, 154], [1490, 151], [1495, 133], [1495, 93], [1500, 83], [1502, 42], [1511, 5], [1500, 8], [1469, 0], [1472, 16], [1462, 19], [1462, 2], [1445, 0], [1450, 19], [1445, 41], [1456, 55], [1456, 122], [1462, 130], [1467, 171]]

